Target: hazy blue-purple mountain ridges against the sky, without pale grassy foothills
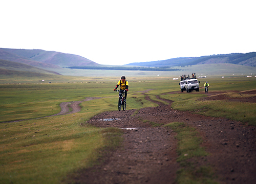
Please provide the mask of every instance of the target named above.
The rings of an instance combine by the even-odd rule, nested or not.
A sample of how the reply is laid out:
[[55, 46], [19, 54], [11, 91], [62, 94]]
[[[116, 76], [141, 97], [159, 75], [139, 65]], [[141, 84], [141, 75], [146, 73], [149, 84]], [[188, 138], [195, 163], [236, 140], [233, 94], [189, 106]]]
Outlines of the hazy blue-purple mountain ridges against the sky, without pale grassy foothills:
[[[87, 68], [88, 69], [101, 69], [102, 67], [111, 67], [98, 64], [87, 58], [74, 55], [65, 54], [55, 51], [44, 51], [39, 49], [26, 50], [26, 49], [4, 49], [0, 48], [0, 59], [5, 61], [13, 61], [23, 63], [45, 70], [54, 71], [61, 67], [74, 67], [74, 68]], [[214, 63], [230, 63], [239, 64], [245, 66], [256, 67], [256, 52], [241, 54], [221, 54], [201, 57], [184, 57], [184, 58], [173, 58], [160, 61], [150, 62], [136, 62], [126, 64], [125, 68], [131, 66], [142, 67], [161, 67], [170, 68], [172, 66], [188, 66], [196, 64], [214, 64]], [[0, 63], [1, 64], [1, 63]], [[3, 62], [2, 62], [3, 64]], [[15, 64], [10, 63], [12, 65]], [[3, 68], [0, 65], [0, 68]], [[13, 69], [13, 68], [12, 68]], [[102, 69], [101, 69], [102, 70]], [[124, 70], [124, 69], [122, 69]]]

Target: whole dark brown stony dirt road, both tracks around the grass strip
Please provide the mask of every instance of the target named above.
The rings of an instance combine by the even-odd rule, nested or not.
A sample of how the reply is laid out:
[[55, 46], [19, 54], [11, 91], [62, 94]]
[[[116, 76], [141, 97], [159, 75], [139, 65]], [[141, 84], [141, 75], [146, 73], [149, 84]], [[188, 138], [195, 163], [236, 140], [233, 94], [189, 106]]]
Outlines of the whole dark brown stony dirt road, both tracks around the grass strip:
[[[255, 94], [255, 91], [252, 93]], [[212, 94], [209, 93], [207, 98], [211, 98], [210, 95]], [[212, 100], [215, 100], [213, 98]], [[145, 99], [153, 101], [148, 96], [145, 96]], [[250, 102], [252, 99], [246, 100]], [[101, 165], [80, 170], [76, 177], [71, 175], [72, 182], [175, 183], [176, 172], [181, 167], [176, 162], [176, 133], [169, 128], [154, 125], [185, 122], [200, 132], [203, 138], [202, 146], [209, 153], [208, 156], [197, 160], [199, 166], [214, 168], [220, 183], [255, 183], [254, 126], [246, 126], [225, 118], [204, 117], [188, 111], [178, 111], [172, 109], [170, 104], [153, 102], [159, 106], [140, 110], [107, 111], [88, 121], [88, 124], [96, 127], [122, 128], [123, 146], [104, 155]]]

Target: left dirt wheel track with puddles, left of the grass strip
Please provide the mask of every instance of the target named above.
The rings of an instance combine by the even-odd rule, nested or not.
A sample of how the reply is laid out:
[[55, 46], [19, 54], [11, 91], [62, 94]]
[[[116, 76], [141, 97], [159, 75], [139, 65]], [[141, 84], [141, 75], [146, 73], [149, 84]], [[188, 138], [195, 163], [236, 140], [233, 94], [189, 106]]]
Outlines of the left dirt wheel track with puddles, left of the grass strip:
[[[167, 111], [169, 105], [158, 103]], [[160, 100], [160, 97], [157, 97]], [[172, 101], [169, 101], [172, 102]], [[168, 107], [167, 107], [168, 106]], [[123, 130], [122, 147], [101, 157], [102, 163], [68, 175], [74, 183], [173, 183], [179, 164], [176, 162], [176, 133], [166, 127], [152, 127], [140, 116], [147, 116], [148, 107], [126, 111], [106, 111], [87, 124], [96, 127], [116, 127]], [[138, 113], [138, 116], [134, 114]], [[160, 117], [161, 118], [161, 117]], [[113, 119], [114, 121], [103, 121]]]

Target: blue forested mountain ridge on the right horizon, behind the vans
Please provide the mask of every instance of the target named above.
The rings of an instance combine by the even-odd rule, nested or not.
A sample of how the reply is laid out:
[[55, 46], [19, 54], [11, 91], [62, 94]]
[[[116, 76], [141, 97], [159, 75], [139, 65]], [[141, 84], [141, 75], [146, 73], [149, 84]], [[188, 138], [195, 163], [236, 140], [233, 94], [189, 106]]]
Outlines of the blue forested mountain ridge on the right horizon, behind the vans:
[[231, 63], [245, 66], [256, 67], [256, 52], [241, 54], [221, 54], [201, 57], [187, 57], [187, 58], [173, 58], [161, 61], [150, 62], [136, 62], [126, 64], [127, 66], [149, 66], [149, 67], [163, 67], [163, 66], [186, 66], [196, 64], [216, 64], [216, 63]]

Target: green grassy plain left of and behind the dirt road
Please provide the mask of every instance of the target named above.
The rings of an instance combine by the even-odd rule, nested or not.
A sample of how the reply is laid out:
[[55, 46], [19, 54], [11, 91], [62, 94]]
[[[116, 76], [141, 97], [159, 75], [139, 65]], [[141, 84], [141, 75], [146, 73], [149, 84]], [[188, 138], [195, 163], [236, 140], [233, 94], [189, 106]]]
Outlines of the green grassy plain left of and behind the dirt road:
[[[99, 150], [117, 147], [121, 142], [118, 129], [80, 124], [103, 111], [117, 110], [118, 95], [113, 92], [113, 88], [118, 78], [61, 76], [56, 80], [58, 82], [49, 84], [29, 83], [31, 79], [25, 77], [15, 79], [15, 83], [20, 83], [16, 85], [3, 84], [12, 83], [14, 79], [1, 78], [0, 183], [59, 183], [67, 173], [97, 164]], [[173, 80], [172, 77], [134, 76], [127, 80], [130, 84], [127, 110], [157, 106], [146, 101], [144, 95], [138, 92], [152, 89], [147, 92], [148, 95], [160, 95], [161, 98], [173, 100], [174, 109], [227, 117], [256, 125], [255, 104], [225, 101], [201, 103], [196, 100], [205, 97], [204, 94], [168, 94], [180, 90], [179, 80]], [[26, 81], [28, 83], [23, 83]], [[200, 86], [203, 86], [206, 79], [199, 81]], [[209, 93], [215, 90], [256, 89], [255, 78], [222, 79], [217, 76], [207, 78], [207, 81], [210, 84]], [[35, 119], [59, 112], [61, 102], [80, 101], [86, 97], [108, 98], [84, 101], [81, 103], [81, 111], [75, 114]], [[202, 108], [203, 111], [198, 111]], [[3, 123], [22, 119], [28, 120]]]

